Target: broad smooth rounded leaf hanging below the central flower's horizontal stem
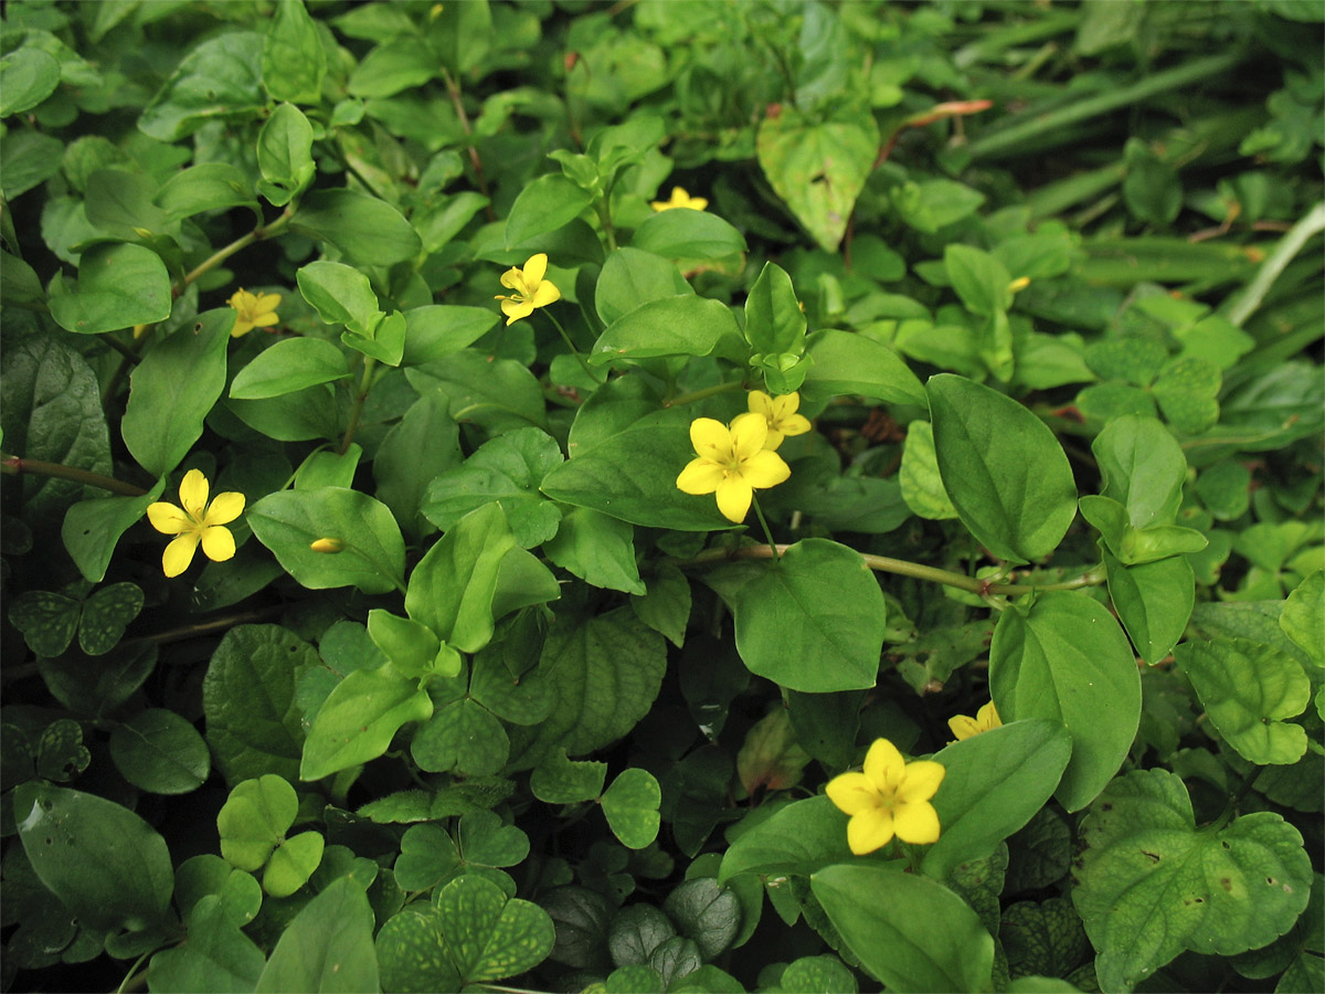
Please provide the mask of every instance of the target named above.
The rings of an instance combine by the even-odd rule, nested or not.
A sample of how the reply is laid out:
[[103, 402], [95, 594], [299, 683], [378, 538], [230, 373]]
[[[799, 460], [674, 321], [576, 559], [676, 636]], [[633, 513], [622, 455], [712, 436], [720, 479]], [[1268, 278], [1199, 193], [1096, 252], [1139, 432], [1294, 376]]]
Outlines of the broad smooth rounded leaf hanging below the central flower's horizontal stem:
[[874, 685], [886, 607], [860, 553], [802, 539], [780, 561], [761, 563], [735, 592], [731, 614], [750, 672], [808, 693]]

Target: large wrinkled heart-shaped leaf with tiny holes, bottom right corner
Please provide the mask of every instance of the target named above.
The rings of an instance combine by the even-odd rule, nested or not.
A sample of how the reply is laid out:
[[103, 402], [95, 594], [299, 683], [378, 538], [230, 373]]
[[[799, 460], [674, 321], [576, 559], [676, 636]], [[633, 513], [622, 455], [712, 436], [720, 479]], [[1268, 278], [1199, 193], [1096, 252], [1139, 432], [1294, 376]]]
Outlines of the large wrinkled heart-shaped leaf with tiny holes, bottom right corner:
[[1105, 990], [1132, 990], [1185, 949], [1232, 956], [1288, 932], [1306, 907], [1310, 857], [1283, 818], [1256, 811], [1196, 828], [1182, 781], [1137, 770], [1081, 823], [1072, 900]]

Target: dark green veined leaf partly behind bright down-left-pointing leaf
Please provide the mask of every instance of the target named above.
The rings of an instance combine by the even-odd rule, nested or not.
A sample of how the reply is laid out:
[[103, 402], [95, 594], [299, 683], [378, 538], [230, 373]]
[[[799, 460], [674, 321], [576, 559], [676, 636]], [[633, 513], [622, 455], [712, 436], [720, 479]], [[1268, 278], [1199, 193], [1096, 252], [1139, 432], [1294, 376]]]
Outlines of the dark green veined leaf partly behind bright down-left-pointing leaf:
[[229, 783], [268, 773], [298, 777], [303, 728], [294, 688], [318, 664], [317, 651], [278, 624], [225, 632], [203, 679], [203, 713], [216, 766]]

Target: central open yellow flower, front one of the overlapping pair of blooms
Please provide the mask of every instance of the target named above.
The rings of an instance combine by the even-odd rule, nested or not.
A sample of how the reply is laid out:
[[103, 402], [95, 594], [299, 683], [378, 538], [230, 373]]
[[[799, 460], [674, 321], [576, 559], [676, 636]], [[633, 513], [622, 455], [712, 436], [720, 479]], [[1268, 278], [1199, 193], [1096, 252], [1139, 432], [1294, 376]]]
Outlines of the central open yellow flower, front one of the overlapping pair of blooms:
[[750, 512], [755, 488], [765, 490], [791, 476], [782, 456], [765, 448], [767, 437], [763, 415], [737, 415], [730, 428], [712, 417], [696, 417], [690, 444], [697, 459], [681, 470], [677, 488], [693, 494], [717, 493], [718, 510], [739, 525]]

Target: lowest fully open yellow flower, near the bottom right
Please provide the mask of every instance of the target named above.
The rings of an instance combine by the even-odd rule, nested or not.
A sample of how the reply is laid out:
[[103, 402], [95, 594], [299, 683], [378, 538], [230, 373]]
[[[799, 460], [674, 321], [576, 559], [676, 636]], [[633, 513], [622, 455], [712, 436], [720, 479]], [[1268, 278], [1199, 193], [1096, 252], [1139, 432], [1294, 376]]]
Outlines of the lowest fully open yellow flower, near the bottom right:
[[933, 759], [906, 762], [897, 746], [876, 738], [865, 753], [864, 773], [844, 773], [828, 781], [828, 799], [844, 814], [847, 844], [857, 856], [902, 842], [938, 842], [938, 812], [929, 799], [947, 770]]

